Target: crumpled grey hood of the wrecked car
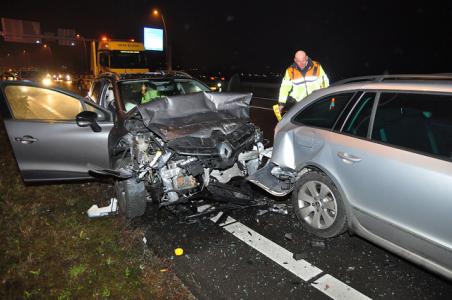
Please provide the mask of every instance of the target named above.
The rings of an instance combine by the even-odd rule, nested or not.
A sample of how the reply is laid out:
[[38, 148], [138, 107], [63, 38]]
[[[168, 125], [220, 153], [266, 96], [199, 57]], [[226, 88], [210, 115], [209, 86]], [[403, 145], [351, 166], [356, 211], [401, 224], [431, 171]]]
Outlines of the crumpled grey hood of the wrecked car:
[[252, 94], [195, 93], [162, 97], [137, 107], [144, 125], [166, 140], [227, 135], [248, 123]]

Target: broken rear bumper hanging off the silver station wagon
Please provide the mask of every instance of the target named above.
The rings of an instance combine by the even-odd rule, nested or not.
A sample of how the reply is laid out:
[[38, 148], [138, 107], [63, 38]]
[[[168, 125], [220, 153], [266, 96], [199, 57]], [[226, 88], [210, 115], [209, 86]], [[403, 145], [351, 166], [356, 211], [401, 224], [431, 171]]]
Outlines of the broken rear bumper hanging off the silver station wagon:
[[253, 175], [248, 176], [246, 180], [274, 196], [283, 197], [292, 192], [296, 176], [284, 180], [280, 179], [272, 174], [274, 168], [279, 167], [269, 163]]

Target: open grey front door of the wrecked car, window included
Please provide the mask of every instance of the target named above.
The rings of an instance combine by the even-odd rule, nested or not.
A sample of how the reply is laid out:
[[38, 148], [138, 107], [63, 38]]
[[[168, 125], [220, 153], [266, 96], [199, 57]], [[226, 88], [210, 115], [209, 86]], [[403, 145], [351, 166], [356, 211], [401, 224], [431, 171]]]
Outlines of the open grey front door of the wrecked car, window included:
[[[24, 181], [89, 179], [90, 169], [109, 168], [110, 112], [30, 82], [3, 82], [0, 88], [5, 128]], [[76, 124], [76, 115], [86, 110], [97, 114], [100, 132]]]

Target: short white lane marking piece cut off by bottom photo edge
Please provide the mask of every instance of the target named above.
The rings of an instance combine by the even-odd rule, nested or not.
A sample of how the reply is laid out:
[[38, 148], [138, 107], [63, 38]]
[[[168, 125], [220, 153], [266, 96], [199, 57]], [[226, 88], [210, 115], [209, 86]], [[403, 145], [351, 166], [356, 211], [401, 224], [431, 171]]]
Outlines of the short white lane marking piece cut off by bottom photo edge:
[[370, 299], [330, 274], [320, 277], [311, 285], [322, 293], [337, 300]]

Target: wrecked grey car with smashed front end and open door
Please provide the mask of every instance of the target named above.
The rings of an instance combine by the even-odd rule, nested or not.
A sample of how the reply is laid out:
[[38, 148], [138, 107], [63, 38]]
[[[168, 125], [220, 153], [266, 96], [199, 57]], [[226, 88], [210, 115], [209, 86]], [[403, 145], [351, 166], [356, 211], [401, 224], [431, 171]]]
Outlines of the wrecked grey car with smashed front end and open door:
[[[0, 82], [5, 127], [24, 181], [113, 177], [120, 211], [133, 218], [148, 202], [183, 203], [257, 170], [262, 133], [249, 119], [250, 94], [206, 93], [190, 78], [167, 74], [104, 79], [111, 88], [103, 103], [35, 83]], [[178, 92], [146, 104], [138, 94], [127, 109], [121, 88], [130, 92], [134, 81], [165, 91], [171, 84]], [[182, 89], [196, 86], [195, 93], [182, 92], [180, 82]]]

